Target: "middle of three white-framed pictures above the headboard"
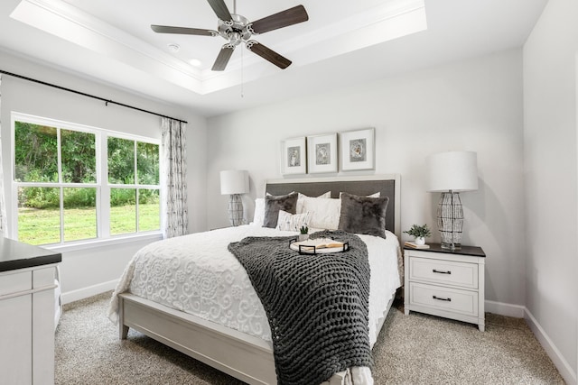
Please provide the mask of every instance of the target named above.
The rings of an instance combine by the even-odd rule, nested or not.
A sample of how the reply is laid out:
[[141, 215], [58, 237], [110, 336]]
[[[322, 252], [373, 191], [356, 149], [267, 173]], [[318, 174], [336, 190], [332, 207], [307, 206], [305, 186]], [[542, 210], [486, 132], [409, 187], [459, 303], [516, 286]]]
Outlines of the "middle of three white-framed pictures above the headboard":
[[307, 169], [310, 174], [337, 172], [337, 133], [307, 137]]

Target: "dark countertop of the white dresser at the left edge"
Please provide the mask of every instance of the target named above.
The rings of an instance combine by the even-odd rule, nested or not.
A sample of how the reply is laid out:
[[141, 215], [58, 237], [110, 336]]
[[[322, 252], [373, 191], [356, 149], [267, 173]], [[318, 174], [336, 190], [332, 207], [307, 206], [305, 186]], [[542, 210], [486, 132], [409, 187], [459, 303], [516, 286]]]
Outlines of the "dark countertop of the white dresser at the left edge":
[[0, 272], [33, 268], [62, 261], [60, 252], [0, 237]]

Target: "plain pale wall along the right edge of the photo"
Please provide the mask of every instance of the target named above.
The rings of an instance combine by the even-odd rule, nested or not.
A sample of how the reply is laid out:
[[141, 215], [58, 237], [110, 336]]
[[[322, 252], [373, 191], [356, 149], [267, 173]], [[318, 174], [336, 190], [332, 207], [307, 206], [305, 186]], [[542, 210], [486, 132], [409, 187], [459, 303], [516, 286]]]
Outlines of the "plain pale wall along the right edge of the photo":
[[[550, 0], [524, 46], [527, 311], [576, 383], [578, 3]], [[564, 241], [564, 242], [558, 242]], [[541, 330], [540, 330], [541, 328]]]

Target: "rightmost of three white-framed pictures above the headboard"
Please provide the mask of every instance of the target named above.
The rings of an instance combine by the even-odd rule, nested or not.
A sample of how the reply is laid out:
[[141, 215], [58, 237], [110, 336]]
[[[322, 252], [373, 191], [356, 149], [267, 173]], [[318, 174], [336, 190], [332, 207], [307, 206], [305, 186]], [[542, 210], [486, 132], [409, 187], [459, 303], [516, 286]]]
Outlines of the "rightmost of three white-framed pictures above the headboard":
[[341, 170], [375, 170], [375, 128], [340, 133]]

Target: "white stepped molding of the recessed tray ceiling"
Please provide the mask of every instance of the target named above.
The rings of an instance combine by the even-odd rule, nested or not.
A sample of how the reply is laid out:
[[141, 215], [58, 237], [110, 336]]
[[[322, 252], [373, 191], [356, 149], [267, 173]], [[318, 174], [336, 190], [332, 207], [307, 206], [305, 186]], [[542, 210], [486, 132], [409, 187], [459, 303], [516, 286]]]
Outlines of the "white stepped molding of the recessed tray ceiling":
[[[22, 0], [11, 17], [199, 95], [237, 86], [241, 81], [275, 75], [279, 71], [248, 50], [242, 52], [240, 58], [231, 60], [226, 71], [196, 69], [61, 0]], [[294, 60], [294, 67], [299, 67], [426, 28], [424, 0], [392, 0], [312, 32], [279, 41], [275, 43], [275, 50]], [[256, 40], [259, 40], [258, 35]]]

